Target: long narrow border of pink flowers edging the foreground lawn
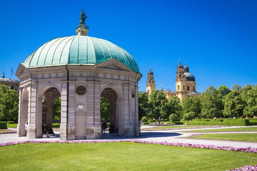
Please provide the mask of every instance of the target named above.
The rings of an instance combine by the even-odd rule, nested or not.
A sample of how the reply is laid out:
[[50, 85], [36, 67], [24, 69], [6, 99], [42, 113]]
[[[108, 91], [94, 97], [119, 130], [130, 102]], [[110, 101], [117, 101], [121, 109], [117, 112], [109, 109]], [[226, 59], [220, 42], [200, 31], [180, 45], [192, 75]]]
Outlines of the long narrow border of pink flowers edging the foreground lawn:
[[68, 141], [68, 140], [58, 140], [58, 141], [20, 141], [20, 142], [9, 142], [2, 143], [0, 147], [3, 146], [12, 146], [17, 144], [25, 144], [25, 143], [117, 143], [117, 142], [132, 142], [132, 143], [143, 143], [143, 144], [156, 144], [156, 145], [164, 145], [164, 146], [177, 146], [177, 147], [190, 147], [190, 148], [198, 148], [198, 149], [214, 149], [214, 150], [227, 150], [227, 151], [239, 151], [239, 152], [249, 152], [249, 153], [257, 153], [257, 149], [255, 148], [235, 148], [230, 146], [214, 146], [214, 145], [199, 145], [199, 144], [190, 144], [190, 143], [169, 143], [169, 142], [156, 142], [156, 141], [144, 141], [139, 139], [125, 139], [125, 140], [81, 140], [81, 141]]

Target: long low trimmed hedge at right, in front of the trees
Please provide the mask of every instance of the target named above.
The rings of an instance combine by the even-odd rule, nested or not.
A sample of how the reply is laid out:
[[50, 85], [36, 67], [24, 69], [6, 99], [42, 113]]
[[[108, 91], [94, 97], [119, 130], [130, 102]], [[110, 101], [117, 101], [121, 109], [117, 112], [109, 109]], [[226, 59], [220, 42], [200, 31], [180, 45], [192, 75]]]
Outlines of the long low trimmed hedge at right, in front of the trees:
[[238, 119], [237, 122], [236, 121], [223, 121], [223, 122], [192, 121], [192, 122], [187, 122], [187, 125], [251, 126], [252, 124], [255, 124], [255, 123], [254, 122], [250, 123], [248, 119]]

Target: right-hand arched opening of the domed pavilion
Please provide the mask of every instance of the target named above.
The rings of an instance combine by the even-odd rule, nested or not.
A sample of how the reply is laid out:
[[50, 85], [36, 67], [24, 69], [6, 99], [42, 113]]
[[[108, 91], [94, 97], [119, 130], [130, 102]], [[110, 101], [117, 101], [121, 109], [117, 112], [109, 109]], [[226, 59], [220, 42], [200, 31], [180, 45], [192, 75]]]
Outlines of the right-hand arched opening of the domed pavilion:
[[118, 95], [112, 88], [105, 88], [101, 93], [100, 100], [100, 117], [101, 124], [107, 122], [108, 132], [118, 132]]

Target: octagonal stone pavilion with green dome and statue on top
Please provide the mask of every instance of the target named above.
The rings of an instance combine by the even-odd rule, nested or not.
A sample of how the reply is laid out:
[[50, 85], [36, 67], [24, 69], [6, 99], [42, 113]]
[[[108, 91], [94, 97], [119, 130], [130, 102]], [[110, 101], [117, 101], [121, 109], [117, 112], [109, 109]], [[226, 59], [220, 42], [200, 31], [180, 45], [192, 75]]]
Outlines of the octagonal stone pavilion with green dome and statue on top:
[[101, 97], [110, 103], [110, 128], [118, 136], [140, 136], [138, 64], [114, 43], [88, 36], [86, 18], [82, 10], [76, 36], [43, 44], [19, 65], [19, 136], [41, 138], [59, 97], [62, 140], [101, 138]]

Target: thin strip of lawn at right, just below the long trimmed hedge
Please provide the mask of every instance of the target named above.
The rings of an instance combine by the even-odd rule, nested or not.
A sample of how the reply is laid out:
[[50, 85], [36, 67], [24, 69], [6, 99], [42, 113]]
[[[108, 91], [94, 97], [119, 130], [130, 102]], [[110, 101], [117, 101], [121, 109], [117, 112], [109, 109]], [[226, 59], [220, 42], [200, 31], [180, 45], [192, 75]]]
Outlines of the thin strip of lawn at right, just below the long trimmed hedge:
[[202, 130], [185, 130], [184, 132], [226, 132], [226, 131], [257, 131], [257, 127], [241, 127], [241, 128], [222, 128], [222, 129], [202, 129]]

